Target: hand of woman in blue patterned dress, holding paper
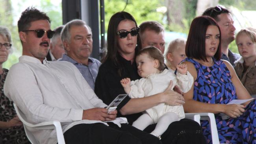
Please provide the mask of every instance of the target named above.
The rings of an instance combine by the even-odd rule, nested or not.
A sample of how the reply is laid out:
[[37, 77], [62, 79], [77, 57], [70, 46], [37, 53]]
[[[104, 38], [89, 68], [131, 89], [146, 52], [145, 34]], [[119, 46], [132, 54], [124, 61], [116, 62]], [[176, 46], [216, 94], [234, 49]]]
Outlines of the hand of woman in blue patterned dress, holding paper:
[[245, 112], [245, 106], [239, 104], [224, 105], [224, 113], [232, 118], [237, 118]]

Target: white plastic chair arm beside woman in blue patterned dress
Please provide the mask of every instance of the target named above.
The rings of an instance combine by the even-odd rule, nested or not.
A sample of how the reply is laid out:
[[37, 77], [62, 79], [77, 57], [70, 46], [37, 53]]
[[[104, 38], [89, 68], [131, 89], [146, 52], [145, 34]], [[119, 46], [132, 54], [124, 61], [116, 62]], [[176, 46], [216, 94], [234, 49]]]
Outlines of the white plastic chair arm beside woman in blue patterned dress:
[[211, 129], [212, 144], [219, 144], [219, 135], [213, 113], [186, 113], [185, 118], [195, 120], [199, 125], [200, 120], [208, 120]]

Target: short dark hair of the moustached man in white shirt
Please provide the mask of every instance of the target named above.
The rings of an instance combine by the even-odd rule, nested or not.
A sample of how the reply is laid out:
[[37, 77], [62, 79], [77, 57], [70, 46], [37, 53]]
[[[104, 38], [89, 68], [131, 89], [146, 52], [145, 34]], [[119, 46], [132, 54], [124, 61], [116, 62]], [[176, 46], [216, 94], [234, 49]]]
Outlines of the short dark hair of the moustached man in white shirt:
[[46, 13], [39, 11], [35, 7], [28, 7], [25, 11], [21, 13], [20, 19], [18, 21], [18, 31], [28, 30], [31, 26], [31, 22], [37, 20], [48, 20], [51, 23], [50, 18]]

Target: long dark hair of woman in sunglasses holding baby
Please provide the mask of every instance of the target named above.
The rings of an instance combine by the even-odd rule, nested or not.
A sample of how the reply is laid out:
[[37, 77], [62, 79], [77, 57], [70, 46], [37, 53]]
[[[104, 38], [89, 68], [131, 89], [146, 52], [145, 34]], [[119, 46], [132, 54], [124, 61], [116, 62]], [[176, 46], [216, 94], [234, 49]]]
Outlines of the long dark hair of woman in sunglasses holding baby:
[[[130, 13], [127, 13], [125, 11], [115, 13], [109, 20], [108, 38], [107, 38], [108, 52], [106, 57], [104, 57], [102, 61], [102, 63], [104, 63], [107, 59], [110, 59], [113, 62], [113, 64], [117, 67], [119, 76], [121, 76], [121, 72], [124, 69], [124, 67], [120, 65], [120, 62], [117, 59], [117, 56], [119, 55], [119, 52], [118, 52], [119, 44], [117, 41], [117, 27], [122, 20], [132, 20], [135, 23], [136, 28], [138, 27], [134, 17], [132, 17]], [[140, 49], [141, 49], [141, 39], [138, 34], [137, 47], [135, 48], [135, 51], [138, 51]]]

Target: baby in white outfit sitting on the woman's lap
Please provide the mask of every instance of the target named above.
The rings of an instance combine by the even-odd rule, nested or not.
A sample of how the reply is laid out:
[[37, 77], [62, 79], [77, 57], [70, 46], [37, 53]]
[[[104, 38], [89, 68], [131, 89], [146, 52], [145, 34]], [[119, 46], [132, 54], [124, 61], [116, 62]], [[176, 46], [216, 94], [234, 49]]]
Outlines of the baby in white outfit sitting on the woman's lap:
[[[180, 87], [182, 92], [187, 92], [193, 84], [193, 77], [187, 72], [187, 65], [177, 66], [177, 76], [173, 71], [165, 69], [163, 54], [154, 46], [148, 46], [138, 52], [136, 57], [138, 74], [141, 79], [130, 81], [130, 78], [121, 80], [124, 91], [131, 98], [143, 98], [164, 92], [173, 81], [174, 85]], [[173, 89], [172, 87], [172, 89]], [[151, 132], [152, 135], [161, 138], [169, 124], [185, 117], [182, 105], [172, 106], [161, 103], [147, 109], [132, 126], [143, 130], [150, 124], [155, 124], [156, 128]]]

